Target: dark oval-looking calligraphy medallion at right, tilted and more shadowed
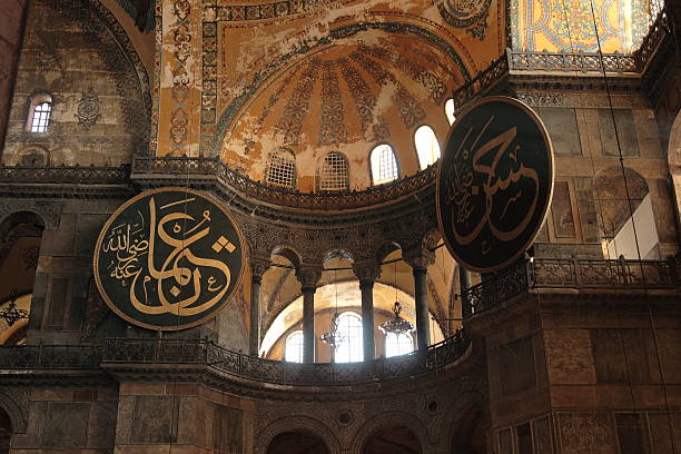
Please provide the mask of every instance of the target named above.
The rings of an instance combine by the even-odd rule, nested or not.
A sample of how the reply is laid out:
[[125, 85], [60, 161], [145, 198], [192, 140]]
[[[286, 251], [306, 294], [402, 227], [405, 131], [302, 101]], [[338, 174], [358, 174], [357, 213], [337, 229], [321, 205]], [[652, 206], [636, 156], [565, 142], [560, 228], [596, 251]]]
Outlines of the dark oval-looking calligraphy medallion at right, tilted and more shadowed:
[[456, 119], [437, 175], [437, 219], [465, 268], [496, 272], [534, 240], [551, 203], [553, 151], [540, 118], [507, 97], [481, 99]]

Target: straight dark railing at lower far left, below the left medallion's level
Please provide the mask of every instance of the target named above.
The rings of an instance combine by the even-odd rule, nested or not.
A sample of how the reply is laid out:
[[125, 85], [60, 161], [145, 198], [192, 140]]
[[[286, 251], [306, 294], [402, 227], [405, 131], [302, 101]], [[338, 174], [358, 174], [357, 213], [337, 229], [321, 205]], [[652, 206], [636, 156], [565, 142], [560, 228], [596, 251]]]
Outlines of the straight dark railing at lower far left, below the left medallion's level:
[[0, 369], [93, 369], [99, 345], [16, 345], [0, 347]]

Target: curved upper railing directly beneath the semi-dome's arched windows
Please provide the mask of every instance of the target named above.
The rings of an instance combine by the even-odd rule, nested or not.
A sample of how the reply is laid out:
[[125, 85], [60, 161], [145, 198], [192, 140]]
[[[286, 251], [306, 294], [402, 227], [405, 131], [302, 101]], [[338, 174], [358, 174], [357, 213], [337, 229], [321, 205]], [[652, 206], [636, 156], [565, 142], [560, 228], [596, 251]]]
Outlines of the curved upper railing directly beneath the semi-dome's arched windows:
[[217, 177], [221, 182], [246, 196], [275, 205], [297, 208], [356, 208], [379, 204], [414, 194], [435, 180], [436, 166], [411, 177], [375, 186], [361, 191], [299, 193], [279, 186], [255, 181], [229, 168], [217, 158], [136, 158], [132, 174], [137, 176], [180, 175], [187, 177]]

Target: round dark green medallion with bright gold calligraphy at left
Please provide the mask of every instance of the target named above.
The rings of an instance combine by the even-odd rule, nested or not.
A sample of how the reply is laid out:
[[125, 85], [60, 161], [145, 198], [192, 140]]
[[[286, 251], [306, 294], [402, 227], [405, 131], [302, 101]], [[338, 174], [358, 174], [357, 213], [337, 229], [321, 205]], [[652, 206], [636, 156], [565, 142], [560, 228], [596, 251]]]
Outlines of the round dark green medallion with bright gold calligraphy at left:
[[105, 224], [95, 280], [109, 307], [150, 329], [215, 317], [239, 286], [244, 238], [231, 216], [193, 189], [160, 188], [126, 201]]

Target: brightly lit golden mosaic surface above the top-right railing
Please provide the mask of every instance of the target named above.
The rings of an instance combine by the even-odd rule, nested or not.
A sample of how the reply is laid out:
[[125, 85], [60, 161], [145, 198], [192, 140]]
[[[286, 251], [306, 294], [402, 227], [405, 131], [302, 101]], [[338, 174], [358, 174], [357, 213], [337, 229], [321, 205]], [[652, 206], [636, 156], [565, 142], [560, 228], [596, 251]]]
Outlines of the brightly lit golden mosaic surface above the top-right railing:
[[[592, 14], [593, 8], [593, 14]], [[532, 52], [632, 52], [648, 31], [648, 0], [512, 0], [513, 47]]]

